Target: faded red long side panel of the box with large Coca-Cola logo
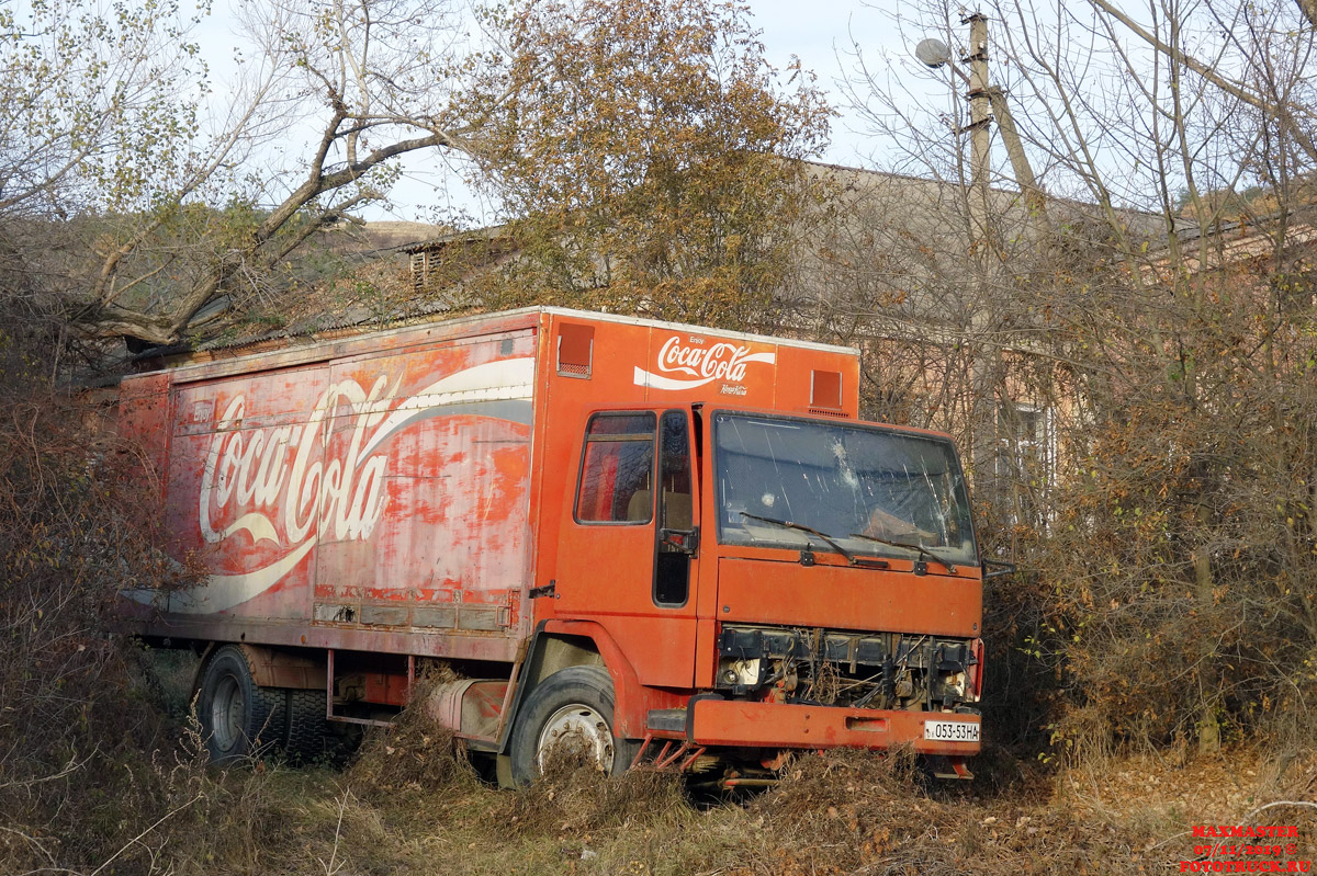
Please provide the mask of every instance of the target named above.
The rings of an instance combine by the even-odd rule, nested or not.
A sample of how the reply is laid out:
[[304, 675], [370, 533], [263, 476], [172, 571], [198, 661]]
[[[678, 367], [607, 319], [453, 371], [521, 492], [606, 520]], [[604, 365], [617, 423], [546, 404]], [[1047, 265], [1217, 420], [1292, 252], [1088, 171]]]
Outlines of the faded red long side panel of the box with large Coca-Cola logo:
[[535, 329], [514, 328], [175, 385], [167, 543], [205, 577], [130, 593], [159, 612], [148, 631], [389, 633], [382, 650], [432, 654], [515, 637], [535, 353]]

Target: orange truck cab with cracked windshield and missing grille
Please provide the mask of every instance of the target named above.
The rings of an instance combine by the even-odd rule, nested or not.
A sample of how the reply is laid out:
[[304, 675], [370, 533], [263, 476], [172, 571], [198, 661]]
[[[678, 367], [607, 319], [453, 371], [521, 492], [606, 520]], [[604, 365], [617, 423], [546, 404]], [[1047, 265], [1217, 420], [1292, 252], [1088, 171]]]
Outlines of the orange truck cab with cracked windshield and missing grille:
[[981, 568], [948, 437], [702, 404], [603, 409], [572, 474], [536, 617], [616, 643], [635, 673], [619, 738], [765, 762], [900, 741], [967, 773]]

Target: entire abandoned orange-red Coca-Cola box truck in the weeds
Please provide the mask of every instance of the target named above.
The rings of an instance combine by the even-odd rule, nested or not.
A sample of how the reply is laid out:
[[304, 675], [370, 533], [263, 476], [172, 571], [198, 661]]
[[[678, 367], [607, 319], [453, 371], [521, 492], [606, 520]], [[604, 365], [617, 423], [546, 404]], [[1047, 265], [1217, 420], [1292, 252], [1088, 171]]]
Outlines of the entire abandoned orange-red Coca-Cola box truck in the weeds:
[[[125, 377], [167, 552], [125, 626], [203, 659], [215, 760], [427, 708], [503, 781], [556, 746], [724, 785], [793, 750], [979, 751], [984, 566], [947, 435], [855, 350], [554, 308]], [[335, 725], [335, 722], [338, 722]]]

